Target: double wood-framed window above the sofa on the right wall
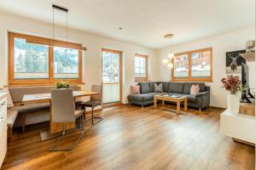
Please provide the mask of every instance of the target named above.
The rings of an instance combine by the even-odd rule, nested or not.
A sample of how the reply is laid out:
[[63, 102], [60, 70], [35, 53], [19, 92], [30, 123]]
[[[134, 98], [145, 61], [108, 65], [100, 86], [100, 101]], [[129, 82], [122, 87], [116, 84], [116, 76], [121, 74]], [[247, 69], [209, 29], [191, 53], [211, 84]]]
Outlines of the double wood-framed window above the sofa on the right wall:
[[172, 81], [212, 82], [212, 48], [175, 54]]

